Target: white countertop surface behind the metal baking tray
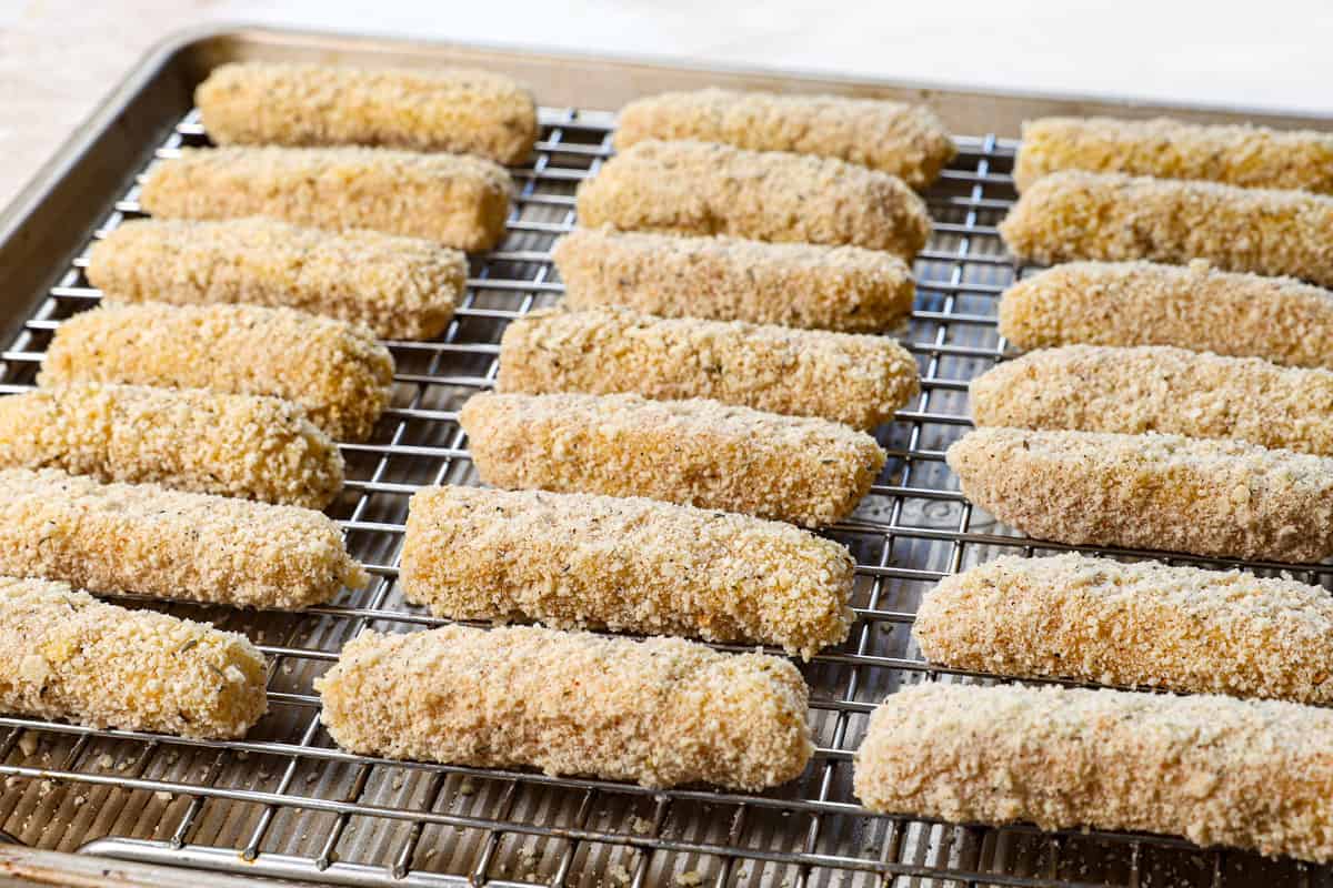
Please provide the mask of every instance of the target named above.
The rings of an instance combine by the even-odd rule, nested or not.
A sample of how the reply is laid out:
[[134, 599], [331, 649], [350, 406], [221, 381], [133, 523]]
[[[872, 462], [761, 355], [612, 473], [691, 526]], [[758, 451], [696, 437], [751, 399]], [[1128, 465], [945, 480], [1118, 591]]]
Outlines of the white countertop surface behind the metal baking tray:
[[0, 0], [0, 205], [152, 44], [220, 21], [1333, 112], [1328, 0]]

